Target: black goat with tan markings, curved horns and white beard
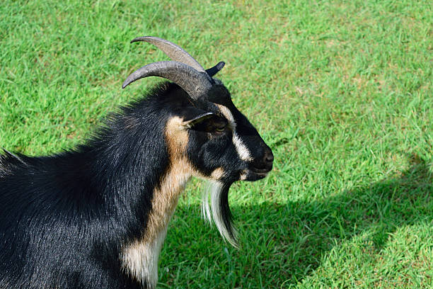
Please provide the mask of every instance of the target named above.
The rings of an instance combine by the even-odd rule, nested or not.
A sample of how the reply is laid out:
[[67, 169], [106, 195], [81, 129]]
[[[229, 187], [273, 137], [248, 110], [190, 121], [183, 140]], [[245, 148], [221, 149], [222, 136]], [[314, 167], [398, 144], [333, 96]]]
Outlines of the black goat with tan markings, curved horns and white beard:
[[[214, 74], [185, 50], [145, 36], [171, 61], [142, 99], [108, 117], [75, 149], [0, 154], [0, 288], [155, 288], [158, 256], [191, 176], [211, 183], [203, 213], [236, 246], [228, 193], [263, 179], [273, 155]], [[210, 205], [209, 205], [210, 195]]]

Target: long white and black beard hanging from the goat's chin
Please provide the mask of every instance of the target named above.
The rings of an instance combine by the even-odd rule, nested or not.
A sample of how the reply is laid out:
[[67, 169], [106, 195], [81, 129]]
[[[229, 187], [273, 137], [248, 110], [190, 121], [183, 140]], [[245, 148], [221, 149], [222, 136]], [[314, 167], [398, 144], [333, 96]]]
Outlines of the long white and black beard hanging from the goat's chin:
[[202, 215], [210, 224], [213, 221], [221, 236], [238, 248], [237, 231], [232, 222], [229, 206], [230, 186], [231, 183], [207, 181], [202, 195]]

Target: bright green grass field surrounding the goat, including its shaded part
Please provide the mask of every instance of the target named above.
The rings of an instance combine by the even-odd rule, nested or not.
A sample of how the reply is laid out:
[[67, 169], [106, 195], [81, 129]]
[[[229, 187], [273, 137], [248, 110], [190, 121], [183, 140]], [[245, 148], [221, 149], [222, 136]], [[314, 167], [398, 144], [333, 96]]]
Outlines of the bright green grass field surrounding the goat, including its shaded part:
[[200, 181], [168, 230], [159, 288], [433, 288], [431, 1], [11, 1], [0, 4], [0, 146], [74, 147], [120, 89], [167, 60], [219, 74], [275, 154], [236, 183], [241, 249], [200, 219]]

